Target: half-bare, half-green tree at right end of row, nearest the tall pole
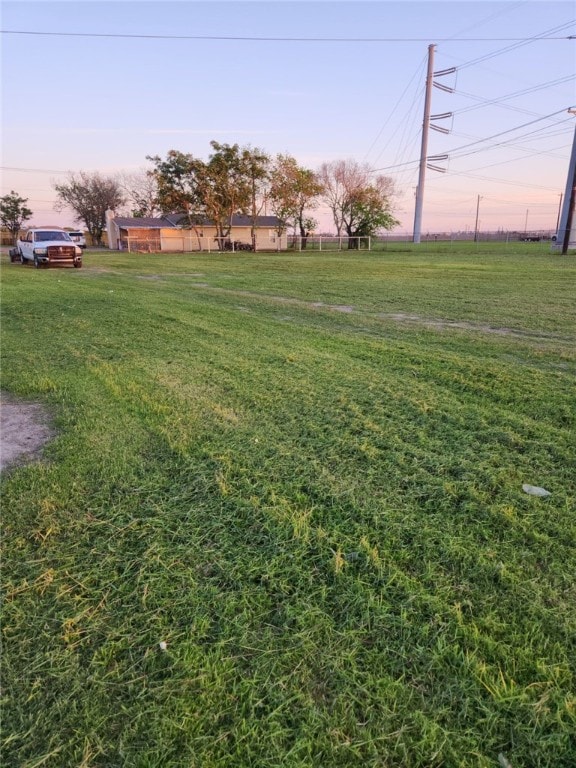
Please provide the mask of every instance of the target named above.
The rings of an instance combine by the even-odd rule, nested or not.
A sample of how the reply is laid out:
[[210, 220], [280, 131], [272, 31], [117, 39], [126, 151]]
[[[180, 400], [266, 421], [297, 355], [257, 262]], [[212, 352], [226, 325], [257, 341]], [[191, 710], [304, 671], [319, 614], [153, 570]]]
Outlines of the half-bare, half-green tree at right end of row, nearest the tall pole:
[[372, 168], [354, 160], [335, 160], [320, 166], [324, 199], [332, 211], [338, 235], [349, 237], [348, 247], [357, 248], [359, 237], [392, 229], [399, 222], [392, 215], [394, 184], [387, 176], [374, 176]]

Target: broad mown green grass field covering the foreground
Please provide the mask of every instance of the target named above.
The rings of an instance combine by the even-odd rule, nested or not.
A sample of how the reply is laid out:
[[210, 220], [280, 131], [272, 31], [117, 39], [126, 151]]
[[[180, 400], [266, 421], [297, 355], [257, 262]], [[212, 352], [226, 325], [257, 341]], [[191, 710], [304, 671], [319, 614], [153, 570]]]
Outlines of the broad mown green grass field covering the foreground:
[[4, 261], [2, 388], [58, 436], [3, 479], [2, 764], [573, 766], [575, 276]]

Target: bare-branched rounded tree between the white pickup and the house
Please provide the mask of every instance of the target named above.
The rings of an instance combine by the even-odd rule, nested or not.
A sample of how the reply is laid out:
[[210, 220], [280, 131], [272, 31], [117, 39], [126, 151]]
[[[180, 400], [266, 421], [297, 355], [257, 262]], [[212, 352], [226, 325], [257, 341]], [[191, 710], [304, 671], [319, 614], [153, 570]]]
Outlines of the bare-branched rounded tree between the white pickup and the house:
[[126, 197], [116, 179], [99, 173], [71, 173], [66, 184], [55, 184], [58, 195], [55, 209], [71, 208], [75, 220], [84, 222], [93, 242], [102, 244], [102, 233], [106, 228], [106, 211], [116, 210], [123, 205]]

